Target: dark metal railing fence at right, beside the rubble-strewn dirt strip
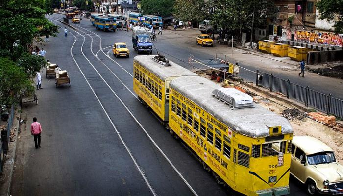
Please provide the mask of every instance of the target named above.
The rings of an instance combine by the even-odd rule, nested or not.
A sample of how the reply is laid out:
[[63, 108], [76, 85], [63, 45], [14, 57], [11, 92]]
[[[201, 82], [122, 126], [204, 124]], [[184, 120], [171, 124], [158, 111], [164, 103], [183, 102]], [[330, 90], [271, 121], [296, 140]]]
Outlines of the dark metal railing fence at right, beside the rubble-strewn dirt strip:
[[[331, 94], [325, 95], [310, 89], [308, 86], [303, 87], [290, 82], [290, 80], [284, 80], [275, 77], [273, 74], [267, 74], [256, 71], [256, 85], [261, 85], [270, 89], [270, 91], [276, 91], [286, 95], [287, 98], [292, 98], [303, 102], [306, 107], [312, 106], [327, 114], [333, 114], [340, 118], [343, 118], [343, 100], [333, 98]], [[262, 75], [259, 77], [259, 74]]]

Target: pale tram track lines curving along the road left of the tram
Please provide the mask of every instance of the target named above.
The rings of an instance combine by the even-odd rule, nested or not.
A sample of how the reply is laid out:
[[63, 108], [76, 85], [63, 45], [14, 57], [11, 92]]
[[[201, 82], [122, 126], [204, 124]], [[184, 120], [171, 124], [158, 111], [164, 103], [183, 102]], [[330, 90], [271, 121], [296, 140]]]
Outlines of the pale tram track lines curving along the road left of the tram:
[[[112, 73], [112, 75], [114, 75], [124, 86], [125, 86], [125, 88], [127, 89], [127, 90], [129, 90], [130, 92], [131, 92], [131, 94], [132, 95], [134, 95], [133, 93], [132, 93], [132, 91], [123, 83], [123, 81], [115, 74], [115, 73], [113, 73], [112, 72], [112, 70], [111, 69], [109, 69], [108, 68], [108, 66], [103, 62], [103, 61], [101, 61], [101, 59], [98, 57], [98, 52], [101, 50], [102, 51], [102, 53], [104, 53], [103, 52], [103, 49], [104, 48], [102, 48], [101, 47], [101, 44], [100, 44], [100, 50], [97, 52], [97, 54], [95, 54], [94, 53], [94, 51], [93, 51], [93, 42], [94, 42], [94, 40], [93, 40], [93, 37], [91, 36], [91, 35], [89, 35], [89, 33], [85, 33], [84, 31], [81, 31], [81, 30], [79, 30], [78, 29], [78, 31], [80, 31], [81, 33], [78, 33], [77, 31], [74, 31], [76, 34], [78, 34], [79, 36], [82, 36], [83, 37], [83, 39], [84, 39], [84, 41], [83, 41], [83, 43], [82, 43], [82, 46], [81, 46], [81, 51], [82, 51], [82, 54], [83, 54], [83, 56], [84, 56], [84, 58], [88, 61], [88, 63], [93, 67], [93, 69], [94, 69], [94, 71], [96, 71], [97, 73], [98, 73], [98, 76], [102, 79], [102, 81], [106, 84], [106, 86], [110, 89], [110, 91], [115, 95], [115, 97], [121, 102], [121, 104], [123, 105], [123, 107], [125, 107], [125, 109], [126, 109], [126, 111], [131, 115], [131, 117], [134, 119], [134, 121], [141, 127], [141, 129], [145, 132], [145, 134], [146, 134], [146, 136], [149, 138], [149, 140], [151, 141], [151, 143], [160, 151], [160, 153], [164, 156], [164, 158], [168, 161], [168, 163], [172, 166], [172, 168], [173, 168], [173, 170], [180, 176], [180, 178], [184, 181], [184, 183], [188, 186], [188, 188], [192, 191], [192, 193], [194, 194], [194, 195], [198, 195], [196, 192], [195, 192], [195, 190], [190, 186], [190, 184], [186, 181], [186, 179], [182, 176], [182, 174], [176, 169], [176, 167], [172, 164], [172, 162], [170, 161], [170, 159], [166, 156], [166, 154], [162, 151], [162, 149], [156, 144], [156, 142], [151, 138], [151, 136], [147, 133], [147, 130], [143, 127], [143, 125], [137, 120], [137, 118], [133, 115], [133, 113], [130, 111], [130, 109], [125, 105], [125, 103], [123, 102], [123, 100], [116, 94], [116, 92], [112, 89], [112, 87], [107, 83], [107, 81], [105, 80], [105, 78], [104, 77], [102, 77], [102, 75], [98, 72], [98, 70], [97, 70], [97, 68], [95, 68], [95, 66], [90, 62], [90, 60], [86, 57], [86, 55], [83, 53], [83, 45], [84, 45], [84, 42], [85, 42], [85, 36], [84, 35], [86, 35], [86, 36], [89, 36], [90, 38], [91, 38], [91, 47], [90, 47], [90, 49], [91, 49], [91, 52], [92, 52], [92, 54], [101, 62], [101, 64], [103, 64], [109, 71], [110, 71], [110, 73]], [[72, 34], [73, 35], [73, 34]], [[96, 35], [96, 34], [95, 34]], [[77, 37], [75, 36], [75, 35], [73, 35], [74, 36], [74, 38], [75, 38], [75, 42], [76, 42], [76, 40], [77, 40]], [[98, 35], [96, 35], [99, 39], [100, 39], [100, 43], [101, 43], [101, 37], [99, 37]], [[74, 42], [74, 43], [75, 43]], [[74, 45], [74, 44], [73, 44]], [[108, 48], [108, 47], [106, 47], [106, 48]], [[71, 55], [73, 56], [73, 53], [72, 53], [72, 49], [71, 49]], [[108, 58], [110, 58], [108, 55], [106, 55], [105, 53], [104, 53], [104, 55], [105, 56], [107, 56]], [[74, 58], [73, 58], [74, 59]], [[111, 58], [110, 58], [111, 59]], [[113, 60], [113, 59], [112, 59]], [[74, 61], [75, 61], [75, 63], [77, 64], [77, 61], [74, 59]], [[114, 60], [113, 60], [114, 61]], [[121, 66], [119, 63], [117, 63], [119, 66]], [[77, 66], [78, 66], [78, 64], [77, 64]], [[121, 66], [122, 67], [122, 66]], [[86, 81], [87, 81], [87, 83], [88, 83], [88, 85], [89, 85], [89, 87], [92, 89], [92, 92], [93, 92], [93, 94], [96, 96], [96, 98], [97, 98], [97, 100], [98, 100], [98, 102], [100, 103], [100, 105], [101, 105], [101, 107], [102, 107], [102, 109], [104, 110], [104, 112], [105, 112], [105, 114], [106, 114], [106, 116], [108, 117], [108, 119], [111, 121], [111, 124], [113, 125], [113, 126], [115, 126], [114, 125], [114, 123], [112, 122], [112, 120], [111, 120], [111, 118], [109, 117], [109, 115], [108, 115], [108, 112], [106, 111], [106, 109], [104, 108], [104, 106], [102, 105], [102, 103], [101, 103], [101, 100], [98, 98], [98, 96], [97, 96], [97, 94], [96, 94], [96, 92], [94, 91], [94, 89], [92, 88], [92, 86], [91, 86], [91, 84], [88, 82], [88, 80], [87, 80], [87, 78], [86, 78], [86, 76], [83, 74], [83, 72], [82, 72], [82, 69], [78, 66], [78, 68], [79, 68], [79, 70], [80, 70], [80, 72], [82, 73], [82, 75], [83, 75], [83, 77], [86, 79]], [[122, 69], [123, 70], [125, 70], [123, 67], [122, 67]], [[125, 70], [126, 71], [126, 70]], [[126, 71], [127, 72], [127, 71]], [[128, 73], [128, 72], [127, 72]], [[132, 76], [132, 75], [131, 75]], [[134, 97], [135, 98], [137, 98], [137, 96], [135, 96], [134, 95]], [[116, 129], [116, 128], [115, 128]], [[116, 132], [117, 132], [117, 134], [119, 134], [120, 135], [120, 133], [119, 133], [119, 131], [118, 131], [118, 129], [116, 129]], [[123, 141], [124, 142], [124, 141]], [[130, 149], [127, 147], [127, 150], [128, 151], [130, 151]], [[132, 157], [133, 159], [134, 159], [134, 157]], [[136, 165], [137, 167], [139, 167], [138, 165]], [[153, 190], [153, 189], [152, 189]], [[153, 194], [153, 195], [155, 195], [155, 194]]]

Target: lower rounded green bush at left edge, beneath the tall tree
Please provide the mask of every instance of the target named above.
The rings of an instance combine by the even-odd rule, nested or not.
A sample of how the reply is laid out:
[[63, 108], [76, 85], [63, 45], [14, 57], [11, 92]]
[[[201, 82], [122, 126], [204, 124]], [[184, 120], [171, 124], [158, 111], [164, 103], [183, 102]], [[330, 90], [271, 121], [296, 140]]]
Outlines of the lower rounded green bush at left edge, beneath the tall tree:
[[11, 105], [22, 94], [31, 94], [34, 86], [10, 59], [0, 58], [0, 104]]

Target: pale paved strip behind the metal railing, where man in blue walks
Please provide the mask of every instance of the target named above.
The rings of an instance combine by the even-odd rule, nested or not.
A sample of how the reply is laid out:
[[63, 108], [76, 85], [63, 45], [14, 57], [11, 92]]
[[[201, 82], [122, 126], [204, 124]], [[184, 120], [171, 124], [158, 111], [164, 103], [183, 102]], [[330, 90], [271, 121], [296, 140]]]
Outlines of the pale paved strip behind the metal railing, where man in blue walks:
[[[272, 54], [247, 52], [235, 47], [231, 49], [231, 47], [220, 44], [215, 44], [214, 47], [197, 46], [196, 36], [198, 34], [200, 34], [200, 31], [197, 29], [187, 31], [177, 30], [176, 32], [166, 30], [164, 33], [164, 35], [167, 35], [168, 39], [170, 39], [171, 44], [189, 48], [190, 51], [195, 50], [196, 52], [211, 55], [212, 58], [215, 58], [217, 54], [217, 57], [224, 59], [226, 55], [226, 59], [231, 61], [232, 56], [233, 63], [238, 62], [240, 66], [249, 70], [256, 71], [256, 69], [259, 69], [265, 73], [273, 73], [276, 77], [283, 78], [285, 80], [290, 79], [291, 82], [298, 85], [304, 87], [309, 86], [311, 89], [320, 93], [326, 95], [330, 93], [335, 98], [343, 99], [343, 79], [325, 77], [308, 71], [305, 72], [305, 78], [300, 78], [298, 77], [298, 73], [300, 72], [299, 63], [289, 60], [288, 57], [280, 58], [275, 57]], [[201, 58], [201, 56], [196, 56], [196, 58]], [[254, 81], [252, 78], [255, 78], [255, 76], [252, 74], [253, 73], [241, 74], [241, 77], [247, 81]]]

